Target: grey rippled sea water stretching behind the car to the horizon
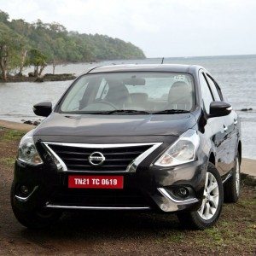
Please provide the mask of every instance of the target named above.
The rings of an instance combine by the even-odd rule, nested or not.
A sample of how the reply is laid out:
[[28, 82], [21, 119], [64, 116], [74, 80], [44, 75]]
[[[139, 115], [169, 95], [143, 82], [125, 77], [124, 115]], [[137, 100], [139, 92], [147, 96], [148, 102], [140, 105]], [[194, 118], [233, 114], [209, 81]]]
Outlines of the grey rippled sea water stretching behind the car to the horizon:
[[[161, 58], [134, 61], [102, 61], [59, 65], [55, 73], [84, 73], [89, 67], [113, 64], [160, 63]], [[164, 63], [196, 64], [206, 67], [218, 81], [224, 96], [241, 117], [242, 156], [256, 159], [256, 55], [230, 55], [207, 57], [165, 58]], [[26, 73], [31, 69], [26, 69]], [[52, 73], [46, 67], [44, 73]], [[0, 119], [21, 122], [38, 119], [32, 112], [37, 102], [55, 103], [72, 81], [44, 83], [0, 83]], [[253, 108], [243, 112], [242, 108]]]

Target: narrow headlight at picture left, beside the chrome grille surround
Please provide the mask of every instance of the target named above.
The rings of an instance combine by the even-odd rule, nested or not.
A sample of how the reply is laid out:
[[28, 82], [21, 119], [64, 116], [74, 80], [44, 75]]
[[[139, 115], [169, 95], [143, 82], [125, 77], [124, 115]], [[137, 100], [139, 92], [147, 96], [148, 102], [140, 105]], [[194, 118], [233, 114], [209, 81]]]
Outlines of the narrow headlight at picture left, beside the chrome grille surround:
[[38, 154], [37, 148], [35, 147], [33, 138], [33, 131], [26, 133], [20, 140], [18, 160], [28, 165], [37, 166], [43, 163], [43, 160]]

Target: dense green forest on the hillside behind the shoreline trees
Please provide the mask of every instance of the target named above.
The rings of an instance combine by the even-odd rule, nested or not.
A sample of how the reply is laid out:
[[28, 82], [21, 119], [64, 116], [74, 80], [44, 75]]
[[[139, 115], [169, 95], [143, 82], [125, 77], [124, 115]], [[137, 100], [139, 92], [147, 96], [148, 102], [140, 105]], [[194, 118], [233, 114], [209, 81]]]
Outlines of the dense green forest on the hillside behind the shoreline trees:
[[56, 22], [9, 21], [9, 15], [0, 10], [0, 44], [3, 41], [12, 52], [9, 55], [11, 68], [19, 67], [25, 50], [31, 57], [25, 65], [36, 65], [38, 61], [42, 64], [43, 60], [51, 63], [145, 58], [142, 49], [119, 38], [67, 32]]

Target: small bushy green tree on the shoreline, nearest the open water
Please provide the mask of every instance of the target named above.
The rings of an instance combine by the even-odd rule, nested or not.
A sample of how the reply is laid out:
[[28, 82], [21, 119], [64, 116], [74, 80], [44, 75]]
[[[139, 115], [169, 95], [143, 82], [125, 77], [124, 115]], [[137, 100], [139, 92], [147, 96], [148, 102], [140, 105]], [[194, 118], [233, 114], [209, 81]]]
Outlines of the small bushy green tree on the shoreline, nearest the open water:
[[44, 55], [39, 49], [30, 50], [29, 63], [34, 66], [34, 76], [40, 77], [43, 73], [44, 67], [46, 67], [46, 55]]

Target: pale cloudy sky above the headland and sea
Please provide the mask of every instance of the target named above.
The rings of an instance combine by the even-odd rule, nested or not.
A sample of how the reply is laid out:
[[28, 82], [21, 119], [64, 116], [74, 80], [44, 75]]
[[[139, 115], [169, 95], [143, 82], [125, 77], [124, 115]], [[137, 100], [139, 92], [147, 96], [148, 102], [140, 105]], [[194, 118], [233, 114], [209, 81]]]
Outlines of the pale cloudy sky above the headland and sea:
[[256, 0], [0, 0], [0, 9], [121, 38], [148, 57], [256, 54]]

